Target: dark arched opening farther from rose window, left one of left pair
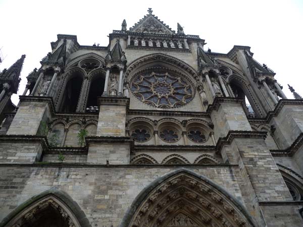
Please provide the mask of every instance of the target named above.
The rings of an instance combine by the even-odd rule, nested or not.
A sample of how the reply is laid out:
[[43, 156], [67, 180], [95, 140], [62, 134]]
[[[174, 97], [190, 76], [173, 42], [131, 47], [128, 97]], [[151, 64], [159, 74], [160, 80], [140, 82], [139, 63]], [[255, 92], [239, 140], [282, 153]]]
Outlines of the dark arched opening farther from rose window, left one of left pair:
[[82, 82], [83, 78], [80, 75], [75, 75], [67, 82], [61, 103], [61, 112], [76, 111]]

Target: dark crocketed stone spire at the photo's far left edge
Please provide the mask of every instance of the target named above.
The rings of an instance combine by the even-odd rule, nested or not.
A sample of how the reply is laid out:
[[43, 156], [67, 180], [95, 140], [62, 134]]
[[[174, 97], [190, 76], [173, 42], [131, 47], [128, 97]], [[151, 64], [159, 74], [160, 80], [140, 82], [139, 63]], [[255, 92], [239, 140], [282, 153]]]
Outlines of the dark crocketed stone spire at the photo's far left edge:
[[8, 70], [4, 69], [0, 74], [0, 83], [8, 83], [11, 87], [10, 91], [17, 94], [19, 82], [20, 82], [20, 73], [22, 70], [23, 62], [25, 59], [25, 54], [21, 56], [17, 62], [15, 62]]

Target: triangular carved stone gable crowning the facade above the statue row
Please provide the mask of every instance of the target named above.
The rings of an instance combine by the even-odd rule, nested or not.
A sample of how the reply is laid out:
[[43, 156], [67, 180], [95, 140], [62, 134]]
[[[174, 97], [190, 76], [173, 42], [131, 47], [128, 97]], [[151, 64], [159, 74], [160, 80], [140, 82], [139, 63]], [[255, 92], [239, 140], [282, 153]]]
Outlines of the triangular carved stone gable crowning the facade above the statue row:
[[130, 28], [129, 31], [138, 33], [174, 34], [174, 32], [167, 25], [151, 14], [145, 16], [142, 20]]

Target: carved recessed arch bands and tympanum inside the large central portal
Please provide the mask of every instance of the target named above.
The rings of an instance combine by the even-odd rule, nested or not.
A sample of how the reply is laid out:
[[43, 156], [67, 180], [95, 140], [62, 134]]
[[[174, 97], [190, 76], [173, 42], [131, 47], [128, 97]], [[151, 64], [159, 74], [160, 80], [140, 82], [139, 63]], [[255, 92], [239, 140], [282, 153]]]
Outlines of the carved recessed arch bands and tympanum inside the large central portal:
[[129, 226], [255, 227], [216, 188], [186, 174], [162, 182], [145, 201]]

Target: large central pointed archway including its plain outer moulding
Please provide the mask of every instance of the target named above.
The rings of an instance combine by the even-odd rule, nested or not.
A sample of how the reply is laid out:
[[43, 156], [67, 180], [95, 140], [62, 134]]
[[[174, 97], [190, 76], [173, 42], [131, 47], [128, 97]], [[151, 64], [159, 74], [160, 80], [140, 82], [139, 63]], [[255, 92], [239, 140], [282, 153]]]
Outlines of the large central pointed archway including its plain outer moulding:
[[188, 169], [151, 183], [134, 200], [120, 227], [257, 227], [246, 209], [211, 180]]

